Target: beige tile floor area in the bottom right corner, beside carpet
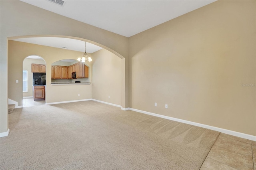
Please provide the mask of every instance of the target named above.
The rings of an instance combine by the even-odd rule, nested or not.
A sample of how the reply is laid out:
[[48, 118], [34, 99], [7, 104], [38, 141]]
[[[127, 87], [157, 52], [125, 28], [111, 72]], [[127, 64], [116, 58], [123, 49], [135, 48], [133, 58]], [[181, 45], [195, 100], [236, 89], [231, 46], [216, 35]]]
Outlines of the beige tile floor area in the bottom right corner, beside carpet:
[[256, 170], [256, 142], [220, 133], [200, 170]]

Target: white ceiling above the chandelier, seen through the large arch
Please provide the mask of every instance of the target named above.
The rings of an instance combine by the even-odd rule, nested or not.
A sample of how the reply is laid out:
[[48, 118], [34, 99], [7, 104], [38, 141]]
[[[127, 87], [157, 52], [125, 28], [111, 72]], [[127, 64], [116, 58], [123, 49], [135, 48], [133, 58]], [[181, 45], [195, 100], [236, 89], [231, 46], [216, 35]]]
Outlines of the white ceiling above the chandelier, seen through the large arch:
[[[34, 43], [38, 45], [45, 45], [49, 47], [56, 47], [62, 49], [70, 49], [74, 51], [84, 52], [84, 41], [75, 40], [71, 38], [58, 38], [58, 37], [36, 37], [36, 38], [19, 38], [14, 41]], [[94, 53], [102, 49], [98, 45], [86, 42], [86, 52]]]

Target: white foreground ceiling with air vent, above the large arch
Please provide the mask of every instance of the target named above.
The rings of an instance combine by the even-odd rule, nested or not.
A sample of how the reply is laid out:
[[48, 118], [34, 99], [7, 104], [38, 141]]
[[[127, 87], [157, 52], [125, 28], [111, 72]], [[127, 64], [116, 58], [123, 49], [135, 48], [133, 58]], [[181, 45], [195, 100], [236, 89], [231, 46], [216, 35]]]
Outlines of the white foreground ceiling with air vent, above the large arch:
[[130, 37], [216, 0], [21, 0], [45, 10]]

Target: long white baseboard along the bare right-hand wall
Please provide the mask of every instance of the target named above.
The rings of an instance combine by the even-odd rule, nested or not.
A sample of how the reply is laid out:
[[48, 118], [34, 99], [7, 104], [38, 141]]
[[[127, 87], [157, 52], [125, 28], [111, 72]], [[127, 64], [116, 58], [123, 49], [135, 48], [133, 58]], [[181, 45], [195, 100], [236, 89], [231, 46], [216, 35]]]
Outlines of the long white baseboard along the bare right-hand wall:
[[237, 136], [237, 137], [240, 137], [240, 138], [245, 138], [245, 139], [256, 141], [256, 136], [253, 136], [253, 135], [250, 135], [250, 134], [236, 132], [236, 131], [232, 131], [232, 130], [228, 130], [228, 129], [224, 129], [224, 128], [212, 127], [212, 126], [209, 126], [209, 125], [204, 125], [204, 124], [201, 124], [201, 123], [186, 121], [186, 120], [183, 120], [183, 119], [177, 119], [177, 118], [174, 118], [174, 117], [158, 115], [156, 113], [150, 113], [150, 112], [141, 111], [141, 110], [138, 110], [138, 109], [132, 109], [132, 108], [125, 108], [125, 109], [129, 109], [131, 111], [136, 111], [136, 112], [139, 112], [139, 113], [144, 113], [144, 114], [147, 114], [147, 115], [161, 117], [161, 118], [164, 118], [164, 119], [169, 119], [169, 120], [176, 121], [176, 122], [186, 123], [186, 124], [194, 125], [194, 126], [197, 126], [197, 127], [207, 128], [207, 129], [210, 129], [210, 130], [216, 130], [218, 132], [222, 132], [222, 133], [225, 133], [225, 134], [230, 134], [232, 136]]

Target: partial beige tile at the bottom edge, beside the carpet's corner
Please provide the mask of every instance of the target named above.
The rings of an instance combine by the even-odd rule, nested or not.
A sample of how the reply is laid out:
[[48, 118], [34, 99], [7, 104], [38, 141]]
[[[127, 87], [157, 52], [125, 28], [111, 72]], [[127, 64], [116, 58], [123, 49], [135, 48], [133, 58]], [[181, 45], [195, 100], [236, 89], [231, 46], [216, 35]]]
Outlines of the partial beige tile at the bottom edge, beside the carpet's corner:
[[202, 164], [200, 170], [236, 170], [231, 166], [213, 160], [211, 158], [206, 158]]

